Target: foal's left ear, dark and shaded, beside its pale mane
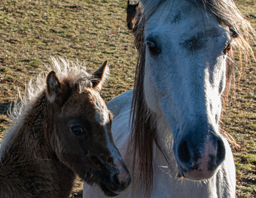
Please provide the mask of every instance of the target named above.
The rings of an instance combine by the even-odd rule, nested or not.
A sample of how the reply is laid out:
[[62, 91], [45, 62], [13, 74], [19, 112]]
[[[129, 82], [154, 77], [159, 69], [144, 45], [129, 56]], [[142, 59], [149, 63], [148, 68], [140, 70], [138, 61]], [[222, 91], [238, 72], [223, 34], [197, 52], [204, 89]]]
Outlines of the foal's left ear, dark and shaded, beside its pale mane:
[[56, 96], [60, 93], [61, 85], [60, 81], [55, 73], [55, 71], [51, 71], [48, 73], [46, 78], [47, 84], [47, 98], [50, 102], [54, 102]]

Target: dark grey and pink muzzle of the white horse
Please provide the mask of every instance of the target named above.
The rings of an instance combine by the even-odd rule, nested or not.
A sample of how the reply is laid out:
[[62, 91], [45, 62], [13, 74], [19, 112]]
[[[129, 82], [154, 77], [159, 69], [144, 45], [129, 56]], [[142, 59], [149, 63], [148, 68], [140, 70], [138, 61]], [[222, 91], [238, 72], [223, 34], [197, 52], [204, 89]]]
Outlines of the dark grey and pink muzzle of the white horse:
[[[211, 129], [205, 130], [212, 131]], [[198, 132], [199, 129], [195, 131]], [[186, 178], [202, 180], [216, 172], [226, 153], [222, 139], [214, 135], [214, 132], [208, 133], [205, 138], [200, 135], [201, 133], [196, 135], [196, 132], [191, 135], [191, 131], [189, 131], [189, 135], [179, 143], [177, 163]], [[197, 143], [193, 143], [193, 141]]]

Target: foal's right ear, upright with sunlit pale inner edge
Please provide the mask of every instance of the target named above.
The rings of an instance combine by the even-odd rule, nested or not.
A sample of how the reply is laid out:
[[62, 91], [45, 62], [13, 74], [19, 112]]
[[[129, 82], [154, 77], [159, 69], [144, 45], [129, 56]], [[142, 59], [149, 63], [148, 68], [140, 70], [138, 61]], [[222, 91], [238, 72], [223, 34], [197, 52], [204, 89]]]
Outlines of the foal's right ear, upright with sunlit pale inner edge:
[[94, 79], [91, 81], [93, 83], [93, 88], [101, 89], [101, 84], [107, 79], [108, 76], [108, 61], [105, 61], [100, 69], [93, 73]]

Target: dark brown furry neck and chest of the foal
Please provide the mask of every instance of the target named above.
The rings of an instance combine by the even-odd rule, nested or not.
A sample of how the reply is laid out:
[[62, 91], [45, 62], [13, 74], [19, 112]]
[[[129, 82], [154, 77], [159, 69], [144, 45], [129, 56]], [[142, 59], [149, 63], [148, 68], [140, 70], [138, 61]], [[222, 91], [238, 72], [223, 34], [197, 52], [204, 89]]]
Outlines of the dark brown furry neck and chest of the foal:
[[47, 141], [45, 94], [14, 127], [0, 162], [0, 197], [68, 197], [74, 174]]

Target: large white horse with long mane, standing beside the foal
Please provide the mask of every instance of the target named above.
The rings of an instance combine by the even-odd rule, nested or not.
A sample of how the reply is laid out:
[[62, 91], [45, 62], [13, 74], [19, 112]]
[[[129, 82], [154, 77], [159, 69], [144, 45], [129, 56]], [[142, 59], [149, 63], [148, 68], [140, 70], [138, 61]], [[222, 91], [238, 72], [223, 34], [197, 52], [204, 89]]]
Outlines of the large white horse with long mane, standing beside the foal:
[[[253, 29], [232, 0], [140, 3], [135, 88], [107, 104], [133, 172], [117, 197], [235, 197], [234, 158], [218, 125], [231, 46], [249, 53]], [[105, 195], [84, 183], [83, 197]]]

